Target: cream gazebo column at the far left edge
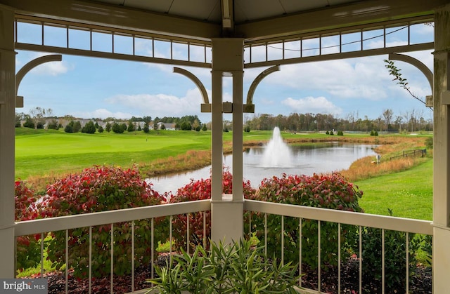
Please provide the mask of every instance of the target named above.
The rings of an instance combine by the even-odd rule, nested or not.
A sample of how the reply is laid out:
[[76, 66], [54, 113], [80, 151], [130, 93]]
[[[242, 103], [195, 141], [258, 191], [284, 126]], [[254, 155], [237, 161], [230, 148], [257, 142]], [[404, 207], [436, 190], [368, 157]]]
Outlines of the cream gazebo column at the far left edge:
[[0, 5], [0, 278], [14, 277], [14, 12]]

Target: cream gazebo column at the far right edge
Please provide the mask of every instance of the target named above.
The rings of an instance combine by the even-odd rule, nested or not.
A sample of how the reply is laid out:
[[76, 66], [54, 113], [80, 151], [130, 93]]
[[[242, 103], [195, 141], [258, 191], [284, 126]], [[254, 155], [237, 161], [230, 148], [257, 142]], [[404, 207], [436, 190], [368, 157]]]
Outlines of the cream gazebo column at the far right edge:
[[450, 270], [450, 4], [435, 12], [433, 292], [449, 292]]

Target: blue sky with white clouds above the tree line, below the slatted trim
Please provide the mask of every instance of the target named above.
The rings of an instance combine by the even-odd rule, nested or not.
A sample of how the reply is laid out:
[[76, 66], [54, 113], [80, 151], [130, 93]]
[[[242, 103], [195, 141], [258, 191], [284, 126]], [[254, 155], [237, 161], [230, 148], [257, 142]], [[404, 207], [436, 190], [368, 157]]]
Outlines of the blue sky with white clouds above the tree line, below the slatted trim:
[[[421, 25], [416, 31], [418, 37], [420, 34], [430, 39], [433, 28]], [[368, 46], [376, 48], [376, 42], [375, 39]], [[401, 44], [401, 40], [390, 39], [391, 46], [396, 42]], [[18, 51], [16, 69], [46, 54]], [[406, 54], [432, 69], [431, 51]], [[394, 116], [414, 110], [425, 119], [432, 119], [430, 109], [392, 81], [385, 59], [387, 55], [282, 65], [280, 72], [259, 83], [253, 98], [255, 114], [311, 112], [376, 119], [383, 109], [392, 109]], [[431, 95], [430, 85], [418, 69], [399, 61], [396, 65], [415, 95], [423, 100], [425, 95]], [[198, 76], [211, 95], [210, 69], [185, 68]], [[264, 69], [245, 70], [244, 99], [253, 79]], [[231, 91], [231, 79], [224, 79], [224, 101], [231, 101]], [[169, 65], [63, 55], [62, 62], [39, 65], [28, 73], [20, 83], [18, 95], [24, 96], [25, 107], [17, 112], [44, 107], [53, 109], [56, 116], [127, 119], [198, 115], [203, 123], [211, 121], [211, 114], [200, 112], [202, 99], [194, 83], [173, 73], [173, 66]], [[225, 114], [224, 119], [231, 120], [231, 115]]]

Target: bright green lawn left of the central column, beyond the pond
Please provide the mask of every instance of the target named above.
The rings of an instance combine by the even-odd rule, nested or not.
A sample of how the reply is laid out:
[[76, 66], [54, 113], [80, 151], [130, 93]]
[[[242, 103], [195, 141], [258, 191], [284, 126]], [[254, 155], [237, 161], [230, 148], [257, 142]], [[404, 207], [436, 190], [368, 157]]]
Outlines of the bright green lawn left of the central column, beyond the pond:
[[210, 149], [210, 132], [64, 133], [17, 128], [15, 178], [76, 171], [93, 165], [131, 166], [188, 150]]

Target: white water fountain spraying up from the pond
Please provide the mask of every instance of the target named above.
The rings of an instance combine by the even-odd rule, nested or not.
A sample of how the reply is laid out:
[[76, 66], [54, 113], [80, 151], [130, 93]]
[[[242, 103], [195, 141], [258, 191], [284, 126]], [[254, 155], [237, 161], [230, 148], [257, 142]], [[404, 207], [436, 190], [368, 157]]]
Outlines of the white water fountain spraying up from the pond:
[[269, 143], [264, 149], [262, 167], [292, 167], [292, 154], [289, 146], [281, 138], [280, 128], [275, 127]]

